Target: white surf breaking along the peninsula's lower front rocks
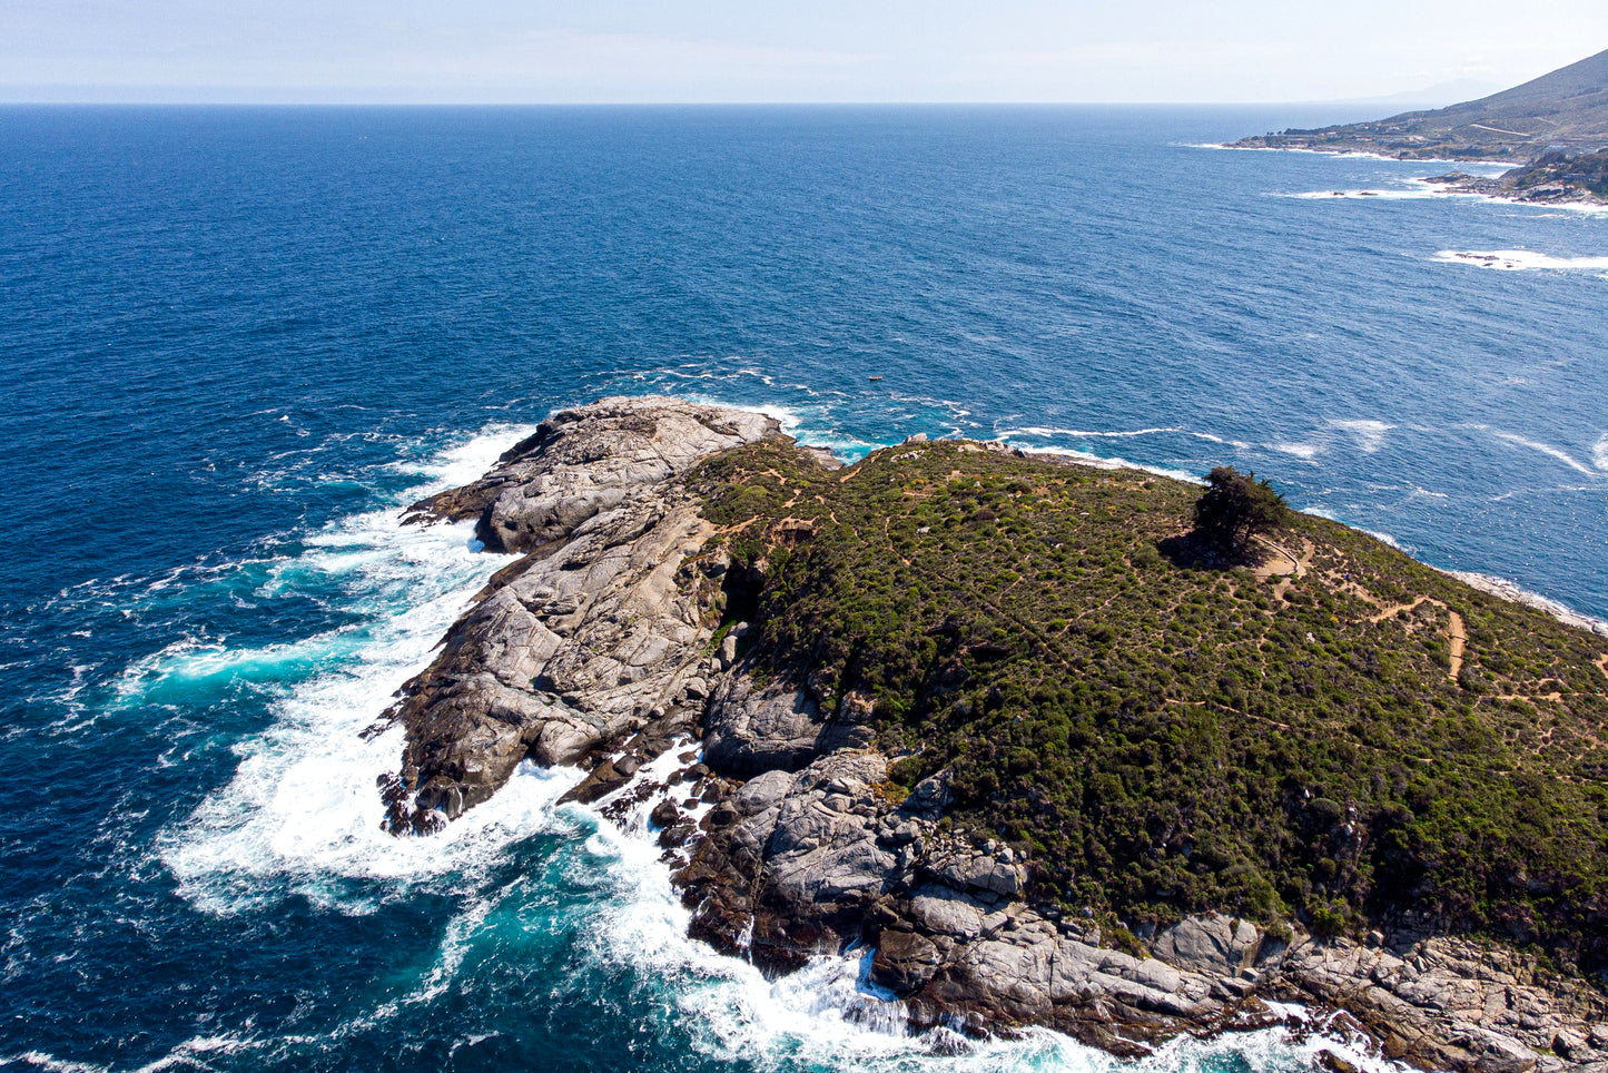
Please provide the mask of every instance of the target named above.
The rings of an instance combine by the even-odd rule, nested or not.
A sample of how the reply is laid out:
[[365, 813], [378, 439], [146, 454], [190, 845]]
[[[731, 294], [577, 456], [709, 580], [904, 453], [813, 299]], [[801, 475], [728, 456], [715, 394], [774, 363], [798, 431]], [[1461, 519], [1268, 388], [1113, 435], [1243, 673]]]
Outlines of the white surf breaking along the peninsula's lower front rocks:
[[[675, 767], [667, 750], [638, 772], [650, 783]], [[1302, 1023], [1211, 1039], [1180, 1036], [1142, 1060], [1122, 1060], [1060, 1033], [1029, 1028], [1010, 1038], [973, 1039], [947, 1028], [913, 1031], [902, 1004], [870, 981], [875, 951], [822, 952], [798, 972], [770, 978], [740, 957], [688, 938], [671, 869], [648, 819], [662, 795], [637, 800], [617, 822], [627, 785], [595, 806], [561, 806], [595, 825], [584, 853], [611, 877], [609, 898], [595, 907], [585, 949], [600, 965], [619, 965], [638, 980], [659, 981], [674, 1007], [674, 1026], [690, 1046], [719, 1062], [764, 1071], [867, 1070], [872, 1073], [1087, 1071], [1206, 1073], [1219, 1070], [1315, 1068], [1333, 1055], [1370, 1073], [1399, 1073], [1367, 1042], [1301, 1007], [1283, 1007]]]

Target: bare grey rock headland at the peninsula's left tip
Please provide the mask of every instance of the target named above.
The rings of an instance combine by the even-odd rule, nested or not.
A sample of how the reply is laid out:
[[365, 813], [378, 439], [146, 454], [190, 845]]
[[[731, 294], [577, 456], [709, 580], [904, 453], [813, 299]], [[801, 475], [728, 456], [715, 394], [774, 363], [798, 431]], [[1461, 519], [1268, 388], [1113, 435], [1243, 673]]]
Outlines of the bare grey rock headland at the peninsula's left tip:
[[544, 421], [481, 481], [413, 507], [412, 520], [476, 516], [489, 549], [523, 558], [389, 713], [408, 738], [383, 788], [392, 830], [441, 827], [526, 756], [572, 764], [650, 719], [701, 716], [695, 661], [725, 560], [699, 558], [714, 528], [672, 478], [777, 434], [743, 410], [605, 399]]

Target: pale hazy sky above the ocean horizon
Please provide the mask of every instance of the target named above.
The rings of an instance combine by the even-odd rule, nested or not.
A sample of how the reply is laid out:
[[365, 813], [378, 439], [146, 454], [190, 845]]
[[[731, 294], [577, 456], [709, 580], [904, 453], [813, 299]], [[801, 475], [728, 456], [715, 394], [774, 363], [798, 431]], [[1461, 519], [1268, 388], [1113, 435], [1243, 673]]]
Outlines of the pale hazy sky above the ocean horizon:
[[1302, 101], [1603, 48], [1605, 0], [0, 0], [0, 100]]

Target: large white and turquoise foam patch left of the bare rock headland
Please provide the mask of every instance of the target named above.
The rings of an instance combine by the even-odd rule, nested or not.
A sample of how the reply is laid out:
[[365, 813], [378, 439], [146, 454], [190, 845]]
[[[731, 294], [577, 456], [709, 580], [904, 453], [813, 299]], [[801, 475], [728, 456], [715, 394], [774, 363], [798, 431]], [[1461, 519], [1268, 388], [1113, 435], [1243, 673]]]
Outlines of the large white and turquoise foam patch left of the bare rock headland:
[[[519, 431], [505, 426], [421, 463], [433, 479], [413, 494], [479, 476]], [[394, 510], [349, 518], [309, 537], [301, 555], [275, 563], [264, 589], [334, 587], [370, 616], [368, 626], [264, 648], [180, 642], [124, 674], [122, 692], [143, 698], [211, 676], [278, 674], [293, 682], [272, 701], [273, 726], [235, 746], [241, 761], [232, 782], [159, 838], [161, 859], [187, 898], [232, 912], [294, 890], [362, 911], [362, 901], [344, 902], [328, 880], [405, 880], [470, 867], [550, 814], [574, 775], [532, 769], [521, 771], [494, 804], [455, 824], [439, 846], [379, 830], [375, 779], [396, 767], [402, 738], [399, 729], [368, 740], [360, 732], [507, 561], [471, 552], [470, 541], [463, 523], [404, 528]]]

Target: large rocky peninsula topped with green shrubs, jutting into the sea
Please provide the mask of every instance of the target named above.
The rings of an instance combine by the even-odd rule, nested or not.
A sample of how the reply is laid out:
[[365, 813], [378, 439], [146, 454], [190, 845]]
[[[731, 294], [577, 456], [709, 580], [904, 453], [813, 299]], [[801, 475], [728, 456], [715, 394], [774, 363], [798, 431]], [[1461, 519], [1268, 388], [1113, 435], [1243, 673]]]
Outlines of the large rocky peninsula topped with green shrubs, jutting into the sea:
[[696, 936], [863, 944], [918, 1026], [1135, 1055], [1296, 1002], [1421, 1068], [1608, 1070], [1608, 640], [1317, 518], [1216, 561], [1198, 492], [556, 413], [410, 513], [518, 558], [386, 713], [384, 822], [579, 766]]

